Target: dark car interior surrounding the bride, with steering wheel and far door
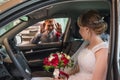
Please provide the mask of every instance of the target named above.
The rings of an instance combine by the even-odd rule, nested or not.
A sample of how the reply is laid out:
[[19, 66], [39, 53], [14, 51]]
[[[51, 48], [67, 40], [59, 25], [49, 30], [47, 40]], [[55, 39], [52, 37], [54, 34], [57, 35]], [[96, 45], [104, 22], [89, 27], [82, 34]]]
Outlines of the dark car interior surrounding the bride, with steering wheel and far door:
[[[27, 75], [23, 73], [25, 77], [52, 77], [53, 70], [50, 72], [44, 70], [43, 59], [49, 56], [51, 53], [55, 53], [57, 51], [63, 51], [70, 56], [77, 51], [77, 49], [84, 42], [79, 34], [77, 18], [80, 16], [80, 14], [90, 9], [98, 10], [104, 17], [104, 20], [108, 23], [108, 29], [105, 34], [110, 35], [110, 5], [104, 1], [68, 1], [64, 3], [54, 3], [42, 8], [38, 8], [16, 19], [20, 20], [20, 22], [6, 33], [5, 36], [7, 36], [7, 38], [3, 36], [3, 43], [5, 46], [0, 45], [0, 53], [4, 53], [6, 55], [8, 54], [13, 62], [4, 62], [3, 70], [5, 70], [6, 75], [3, 75], [2, 78], [4, 79], [6, 76], [8, 78], [15, 79], [22, 78], [23, 76], [20, 74], [23, 73], [22, 68], [23, 70], [28, 70]], [[23, 19], [22, 17], [27, 18], [27, 20]], [[28, 30], [30, 26], [35, 27], [37, 23], [47, 19], [66, 18], [67, 21], [61, 41], [40, 44], [31, 44], [28, 42], [22, 44], [23, 35], [20, 33]], [[31, 31], [34, 33], [36, 30]], [[27, 35], [28, 37], [28, 34], [24, 35]], [[103, 39], [108, 40], [108, 36], [103, 36]], [[27, 39], [26, 41], [29, 40]], [[7, 66], [7, 68], [5, 66]], [[1, 74], [2, 73], [0, 73], [0, 75]]]

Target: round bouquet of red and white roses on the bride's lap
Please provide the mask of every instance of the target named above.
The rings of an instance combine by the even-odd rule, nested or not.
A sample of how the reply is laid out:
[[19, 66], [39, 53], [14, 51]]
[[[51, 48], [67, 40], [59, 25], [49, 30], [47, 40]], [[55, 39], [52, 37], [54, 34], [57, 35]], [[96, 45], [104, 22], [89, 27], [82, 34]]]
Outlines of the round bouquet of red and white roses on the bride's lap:
[[73, 61], [70, 56], [63, 52], [56, 52], [50, 54], [48, 57], [43, 60], [45, 70], [49, 71], [51, 68], [64, 68], [72, 67]]

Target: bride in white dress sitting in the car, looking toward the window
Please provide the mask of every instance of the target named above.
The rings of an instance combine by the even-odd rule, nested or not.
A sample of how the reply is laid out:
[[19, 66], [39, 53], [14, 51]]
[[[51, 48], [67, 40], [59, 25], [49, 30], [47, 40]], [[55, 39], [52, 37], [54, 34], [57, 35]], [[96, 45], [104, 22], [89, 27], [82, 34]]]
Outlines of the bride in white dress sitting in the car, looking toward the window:
[[104, 17], [101, 17], [97, 11], [90, 10], [78, 17], [78, 26], [79, 33], [85, 42], [72, 56], [75, 66], [67, 71], [68, 80], [106, 80], [108, 43], [100, 37], [107, 29]]

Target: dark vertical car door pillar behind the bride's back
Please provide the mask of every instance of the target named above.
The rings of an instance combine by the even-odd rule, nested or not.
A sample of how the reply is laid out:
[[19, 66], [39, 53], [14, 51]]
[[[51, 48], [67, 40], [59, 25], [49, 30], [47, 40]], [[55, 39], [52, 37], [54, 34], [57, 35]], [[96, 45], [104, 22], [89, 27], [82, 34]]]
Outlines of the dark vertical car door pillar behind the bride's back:
[[107, 80], [120, 80], [120, 1], [111, 3], [111, 38]]

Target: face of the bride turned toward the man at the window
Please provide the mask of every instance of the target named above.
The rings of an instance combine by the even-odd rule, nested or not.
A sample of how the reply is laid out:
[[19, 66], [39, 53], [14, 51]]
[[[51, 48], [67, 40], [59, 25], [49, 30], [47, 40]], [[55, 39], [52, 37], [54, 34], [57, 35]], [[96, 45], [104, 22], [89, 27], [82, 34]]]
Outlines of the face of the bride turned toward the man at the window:
[[80, 26], [80, 28], [79, 28], [79, 33], [80, 33], [80, 35], [82, 36], [82, 38], [84, 40], [88, 40], [88, 35], [89, 35], [88, 31], [89, 31], [88, 27], [82, 27], [82, 26]]

